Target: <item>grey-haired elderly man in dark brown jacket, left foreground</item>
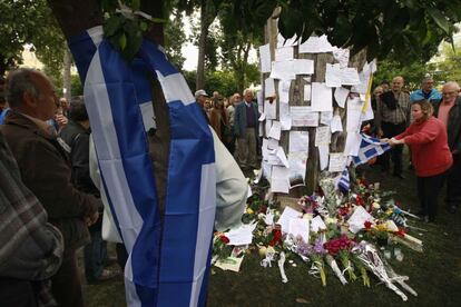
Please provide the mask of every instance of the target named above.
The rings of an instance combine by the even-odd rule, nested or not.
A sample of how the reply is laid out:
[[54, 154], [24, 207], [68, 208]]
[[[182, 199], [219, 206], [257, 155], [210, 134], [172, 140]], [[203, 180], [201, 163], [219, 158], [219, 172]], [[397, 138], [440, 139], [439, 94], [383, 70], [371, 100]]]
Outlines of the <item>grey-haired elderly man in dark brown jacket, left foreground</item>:
[[51, 279], [52, 295], [59, 306], [84, 306], [76, 250], [89, 241], [88, 225], [97, 220], [101, 202], [71, 184], [67, 152], [46, 122], [59, 103], [50, 80], [33, 69], [12, 71], [7, 78], [7, 101], [11, 111], [1, 131], [22, 181], [63, 236], [63, 259]]

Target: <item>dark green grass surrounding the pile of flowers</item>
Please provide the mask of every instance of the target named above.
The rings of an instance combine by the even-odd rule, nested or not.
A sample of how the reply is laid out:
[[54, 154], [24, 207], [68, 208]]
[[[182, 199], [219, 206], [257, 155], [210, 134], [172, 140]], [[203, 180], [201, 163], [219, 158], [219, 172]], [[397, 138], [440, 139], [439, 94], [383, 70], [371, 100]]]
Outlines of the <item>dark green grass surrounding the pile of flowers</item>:
[[[404, 209], [418, 211], [415, 177], [406, 171], [406, 179], [396, 179], [380, 171], [379, 167], [365, 171], [370, 182], [380, 181], [383, 190], [395, 190], [395, 199]], [[327, 269], [326, 287], [307, 274], [308, 267], [297, 257], [292, 267], [285, 263], [288, 278], [283, 284], [278, 268], [263, 268], [257, 250], [248, 251], [239, 273], [213, 267], [208, 306], [461, 306], [461, 212], [448, 214], [443, 201], [439, 204], [437, 224], [413, 222], [426, 231], [413, 232], [423, 240], [424, 252], [402, 248], [402, 263], [390, 261], [400, 275], [410, 277], [408, 284], [418, 297], [402, 299], [370, 274], [371, 287], [357, 279], [342, 286]], [[400, 287], [401, 288], [401, 287]], [[87, 306], [125, 306], [121, 278], [84, 288]]]

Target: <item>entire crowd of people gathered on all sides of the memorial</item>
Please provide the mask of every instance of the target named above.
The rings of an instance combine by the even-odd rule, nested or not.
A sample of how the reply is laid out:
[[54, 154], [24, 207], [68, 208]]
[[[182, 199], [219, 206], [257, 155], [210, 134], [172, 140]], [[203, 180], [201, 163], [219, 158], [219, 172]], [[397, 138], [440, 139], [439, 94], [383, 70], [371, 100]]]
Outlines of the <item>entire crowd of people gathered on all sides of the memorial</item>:
[[[0, 81], [7, 89], [0, 97], [0, 220], [8, 221], [0, 227], [0, 299], [6, 306], [82, 306], [78, 249], [84, 247], [87, 283], [117, 275], [106, 268], [104, 205], [90, 174], [85, 101], [58, 99], [49, 78], [32, 69], [11, 71]], [[439, 92], [433, 86], [428, 77], [410, 93], [402, 77], [382, 82], [373, 90], [375, 119], [370, 122], [371, 133], [392, 146], [379, 159], [383, 171], [392, 169], [404, 179], [403, 146], [410, 148], [420, 214], [426, 221], [435, 220], [444, 185], [447, 209], [455, 212], [461, 202], [460, 87], [450, 81]], [[227, 148], [215, 146], [215, 228], [226, 229], [239, 221], [247, 196], [235, 161], [242, 170], [258, 168], [258, 107], [251, 89], [229, 98], [217, 91], [209, 97], [202, 89], [195, 98], [213, 136]], [[118, 244], [121, 268], [127, 257]]]

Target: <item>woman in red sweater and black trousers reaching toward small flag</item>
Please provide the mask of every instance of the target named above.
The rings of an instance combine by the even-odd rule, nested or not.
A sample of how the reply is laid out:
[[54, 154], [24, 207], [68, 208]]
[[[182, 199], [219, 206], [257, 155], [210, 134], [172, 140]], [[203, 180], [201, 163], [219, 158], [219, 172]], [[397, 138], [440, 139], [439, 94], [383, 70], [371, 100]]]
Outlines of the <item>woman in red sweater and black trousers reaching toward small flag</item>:
[[403, 133], [385, 139], [391, 146], [406, 143], [418, 176], [418, 197], [421, 215], [434, 221], [437, 200], [447, 170], [453, 160], [447, 141], [447, 129], [432, 116], [432, 105], [426, 100], [414, 101], [411, 107], [413, 123]]

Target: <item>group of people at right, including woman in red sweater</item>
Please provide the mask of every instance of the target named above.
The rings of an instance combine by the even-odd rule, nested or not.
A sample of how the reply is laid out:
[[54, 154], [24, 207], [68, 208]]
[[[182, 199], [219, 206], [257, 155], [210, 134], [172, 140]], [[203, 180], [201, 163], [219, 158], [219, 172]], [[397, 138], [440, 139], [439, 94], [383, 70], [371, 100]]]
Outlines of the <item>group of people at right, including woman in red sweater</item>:
[[405, 179], [402, 174], [403, 145], [409, 146], [410, 167], [414, 168], [421, 211], [434, 221], [438, 197], [447, 186], [445, 208], [454, 214], [461, 202], [461, 96], [457, 82], [445, 82], [442, 92], [426, 77], [421, 88], [406, 92], [404, 80], [395, 77], [391, 87], [383, 82], [373, 90], [375, 120], [372, 133], [392, 146], [379, 158], [383, 171]]

